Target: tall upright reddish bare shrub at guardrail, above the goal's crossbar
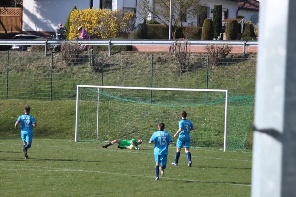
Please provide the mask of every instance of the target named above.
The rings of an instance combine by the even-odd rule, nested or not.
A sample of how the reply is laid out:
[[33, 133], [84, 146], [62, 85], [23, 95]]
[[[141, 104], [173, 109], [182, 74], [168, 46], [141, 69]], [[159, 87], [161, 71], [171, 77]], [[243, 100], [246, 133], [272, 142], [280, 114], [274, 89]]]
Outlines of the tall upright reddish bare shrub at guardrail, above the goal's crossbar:
[[170, 54], [176, 64], [176, 69], [180, 73], [185, 72], [190, 62], [190, 42], [187, 39], [174, 40]]

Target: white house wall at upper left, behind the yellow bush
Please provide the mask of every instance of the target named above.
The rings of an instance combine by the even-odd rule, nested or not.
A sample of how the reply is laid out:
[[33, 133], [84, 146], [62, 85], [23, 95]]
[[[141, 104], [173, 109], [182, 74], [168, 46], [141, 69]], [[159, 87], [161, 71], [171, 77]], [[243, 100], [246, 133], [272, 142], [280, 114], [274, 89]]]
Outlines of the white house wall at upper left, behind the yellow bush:
[[23, 0], [23, 33], [51, 35], [74, 6], [135, 11], [136, 0]]

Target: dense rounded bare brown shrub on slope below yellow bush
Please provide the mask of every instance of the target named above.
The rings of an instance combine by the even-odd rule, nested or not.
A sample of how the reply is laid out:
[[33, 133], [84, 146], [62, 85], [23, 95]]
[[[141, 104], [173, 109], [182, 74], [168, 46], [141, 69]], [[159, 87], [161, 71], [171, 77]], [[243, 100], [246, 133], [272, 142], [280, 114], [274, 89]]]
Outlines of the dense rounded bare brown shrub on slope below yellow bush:
[[78, 63], [84, 46], [75, 40], [61, 42], [63, 60], [69, 63]]

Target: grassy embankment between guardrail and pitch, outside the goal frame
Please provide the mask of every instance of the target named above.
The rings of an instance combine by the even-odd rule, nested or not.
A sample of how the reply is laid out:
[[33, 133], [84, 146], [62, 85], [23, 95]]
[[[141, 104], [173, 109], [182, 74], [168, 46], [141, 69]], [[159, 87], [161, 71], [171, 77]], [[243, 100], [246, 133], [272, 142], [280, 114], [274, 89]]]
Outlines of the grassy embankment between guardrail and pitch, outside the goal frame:
[[[0, 98], [6, 99], [5, 54], [1, 56]], [[13, 129], [14, 122], [22, 114], [25, 105], [32, 107], [39, 124], [36, 136], [53, 138], [74, 137], [75, 101], [77, 84], [112, 86], [151, 85], [151, 56], [139, 53], [117, 54], [105, 58], [102, 73], [98, 56], [97, 64], [91, 67], [85, 59], [79, 63], [66, 65], [61, 56], [54, 55], [53, 73], [51, 58], [42, 55], [12, 55], [9, 62], [8, 99], [1, 100], [0, 135], [18, 135]], [[227, 64], [208, 70], [208, 88], [229, 89], [233, 95], [254, 95], [255, 65], [254, 59], [227, 59]], [[177, 72], [169, 55], [155, 55], [153, 61], [153, 87], [206, 88], [206, 58], [200, 55], [193, 66], [184, 73]], [[51, 75], [52, 74], [52, 75]], [[26, 76], [26, 77], [24, 77]], [[52, 76], [52, 90], [51, 89]], [[25, 88], [23, 88], [25, 87]], [[52, 102], [49, 100], [52, 91]], [[63, 100], [60, 100], [63, 99]], [[64, 100], [66, 99], [66, 100]], [[253, 110], [250, 121], [253, 120]], [[198, 126], [198, 123], [197, 123]], [[246, 148], [250, 148], [252, 133], [248, 132]]]

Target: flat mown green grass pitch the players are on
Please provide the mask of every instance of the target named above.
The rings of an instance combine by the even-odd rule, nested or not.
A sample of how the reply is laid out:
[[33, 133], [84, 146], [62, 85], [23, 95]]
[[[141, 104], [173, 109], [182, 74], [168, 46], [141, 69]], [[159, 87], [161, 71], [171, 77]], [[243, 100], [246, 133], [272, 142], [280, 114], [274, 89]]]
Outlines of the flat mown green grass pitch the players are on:
[[182, 149], [165, 177], [155, 181], [153, 146], [118, 149], [105, 143], [34, 138], [25, 160], [18, 137], [0, 136], [1, 197], [244, 197], [251, 194], [251, 151], [192, 148], [192, 167]]

